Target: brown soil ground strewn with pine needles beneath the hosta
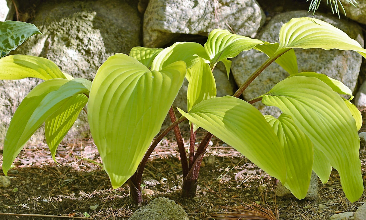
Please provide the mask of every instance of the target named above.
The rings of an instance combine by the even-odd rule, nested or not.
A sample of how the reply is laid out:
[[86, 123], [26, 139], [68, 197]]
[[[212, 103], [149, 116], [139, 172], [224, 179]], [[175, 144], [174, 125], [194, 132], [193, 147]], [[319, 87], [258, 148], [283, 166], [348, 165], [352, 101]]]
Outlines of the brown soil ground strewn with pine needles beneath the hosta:
[[[365, 111], [363, 115], [365, 121]], [[365, 130], [363, 126], [360, 131]], [[198, 140], [204, 134], [198, 132]], [[185, 143], [188, 144], [188, 132], [183, 136], [187, 137]], [[147, 163], [142, 205], [156, 197], [167, 197], [181, 205], [190, 219], [328, 220], [336, 213], [355, 212], [357, 206], [366, 202], [366, 193], [354, 203], [346, 199], [336, 171], [325, 185], [318, 182], [320, 197], [316, 201], [276, 197], [275, 178], [216, 138], [203, 160], [197, 197], [183, 199], [180, 197], [182, 169], [173, 139], [172, 134], [163, 139]], [[364, 142], [360, 158], [366, 179]], [[61, 145], [56, 159], [59, 165], [53, 162], [45, 144], [27, 146], [20, 152], [10, 171], [10, 176], [16, 178], [11, 179], [11, 186], [0, 188], [0, 220], [75, 219], [72, 217], [117, 220], [127, 219], [139, 208], [128, 197], [127, 184], [112, 189], [99, 165], [101, 158], [93, 140], [75, 140], [75, 143]], [[253, 216], [257, 218], [250, 218]]]

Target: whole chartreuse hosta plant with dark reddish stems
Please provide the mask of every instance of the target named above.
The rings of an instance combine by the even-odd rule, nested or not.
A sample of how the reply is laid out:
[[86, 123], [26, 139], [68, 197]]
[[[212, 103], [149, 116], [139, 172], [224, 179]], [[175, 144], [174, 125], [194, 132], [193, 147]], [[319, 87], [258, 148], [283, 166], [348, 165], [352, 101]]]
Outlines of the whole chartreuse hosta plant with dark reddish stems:
[[[87, 103], [91, 134], [112, 187], [128, 182], [136, 202], [141, 202], [141, 179], [147, 159], [170, 130], [176, 134], [182, 162], [182, 196], [195, 196], [202, 158], [214, 135], [279, 179], [299, 199], [305, 198], [312, 170], [326, 183], [334, 167], [346, 197], [354, 202], [363, 193], [357, 134], [361, 114], [340, 96], [353, 98], [340, 81], [321, 73], [299, 73], [293, 48], [354, 50], [366, 57], [366, 50], [358, 42], [314, 18], [294, 18], [285, 23], [279, 42], [216, 29], [204, 46], [177, 42], [165, 49], [135, 47], [129, 56], [110, 56], [98, 69], [93, 83], [73, 79], [44, 58], [4, 57], [0, 60], [0, 79], [38, 77], [46, 81], [30, 91], [10, 122], [3, 171], [6, 175], [43, 122], [46, 141], [55, 158], [58, 144]], [[212, 70], [217, 62], [223, 62], [229, 74], [228, 58], [250, 49], [267, 54], [268, 60], [234, 96], [216, 97]], [[289, 76], [261, 96], [249, 101], [240, 99], [240, 94], [272, 62], [277, 62]], [[178, 109], [182, 117], [177, 119], [172, 104], [184, 77], [189, 82], [188, 109]], [[255, 102], [276, 106], [283, 114], [279, 118], [262, 115], [251, 105]], [[172, 124], [156, 137], [167, 114]], [[188, 149], [184, 148], [179, 130], [179, 123], [184, 120], [191, 125]], [[208, 133], [197, 147], [195, 131], [199, 127]]]

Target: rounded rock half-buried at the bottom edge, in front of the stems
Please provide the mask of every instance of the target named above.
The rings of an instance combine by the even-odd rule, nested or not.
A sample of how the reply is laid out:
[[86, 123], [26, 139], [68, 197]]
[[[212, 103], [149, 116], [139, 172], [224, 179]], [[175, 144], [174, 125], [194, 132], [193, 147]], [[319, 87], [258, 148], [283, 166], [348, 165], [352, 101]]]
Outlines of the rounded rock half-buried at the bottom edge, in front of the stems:
[[188, 220], [188, 215], [174, 201], [158, 197], [137, 209], [129, 220]]

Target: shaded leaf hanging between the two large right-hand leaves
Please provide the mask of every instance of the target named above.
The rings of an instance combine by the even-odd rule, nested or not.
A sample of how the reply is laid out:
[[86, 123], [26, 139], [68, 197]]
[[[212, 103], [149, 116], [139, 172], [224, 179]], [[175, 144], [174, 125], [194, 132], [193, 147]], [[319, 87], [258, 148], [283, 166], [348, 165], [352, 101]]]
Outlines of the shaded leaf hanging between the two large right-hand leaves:
[[314, 160], [314, 145], [295, 125], [290, 115], [281, 114], [277, 119], [265, 115], [283, 147], [286, 162], [286, 182], [283, 183], [299, 200], [305, 198], [309, 188]]

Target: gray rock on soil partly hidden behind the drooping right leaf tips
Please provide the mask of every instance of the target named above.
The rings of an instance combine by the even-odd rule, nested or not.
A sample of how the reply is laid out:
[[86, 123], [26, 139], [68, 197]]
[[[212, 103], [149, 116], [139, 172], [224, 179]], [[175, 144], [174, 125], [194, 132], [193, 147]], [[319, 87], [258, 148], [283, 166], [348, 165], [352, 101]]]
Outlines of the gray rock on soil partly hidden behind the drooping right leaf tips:
[[[284, 187], [281, 182], [279, 182], [277, 185], [276, 196], [278, 196], [278, 197], [292, 196], [293, 197], [291, 191], [288, 190], [286, 187]], [[313, 171], [313, 172], [311, 172], [310, 185], [309, 185], [309, 189], [307, 190], [305, 199], [313, 201], [313, 200], [317, 200], [318, 198], [319, 198], [318, 176]]]

